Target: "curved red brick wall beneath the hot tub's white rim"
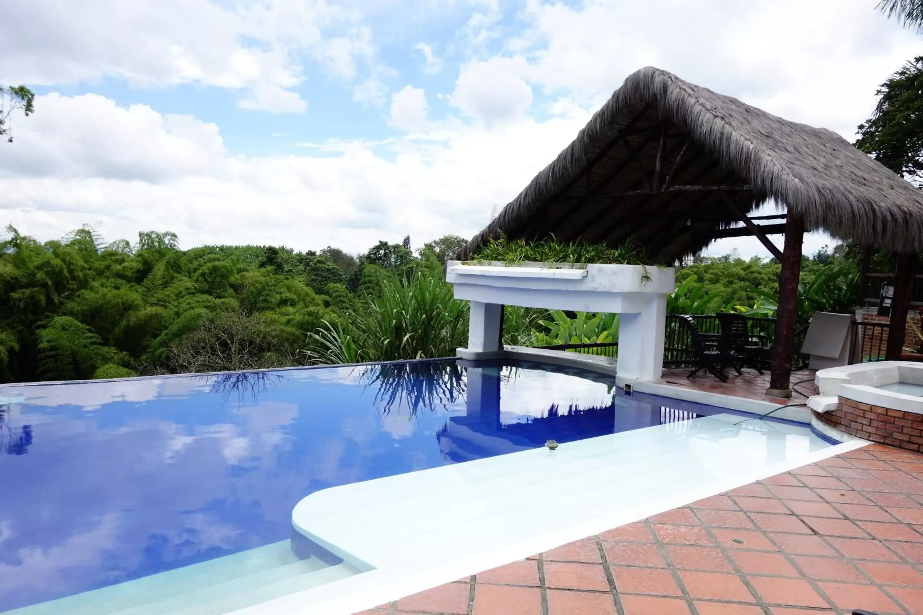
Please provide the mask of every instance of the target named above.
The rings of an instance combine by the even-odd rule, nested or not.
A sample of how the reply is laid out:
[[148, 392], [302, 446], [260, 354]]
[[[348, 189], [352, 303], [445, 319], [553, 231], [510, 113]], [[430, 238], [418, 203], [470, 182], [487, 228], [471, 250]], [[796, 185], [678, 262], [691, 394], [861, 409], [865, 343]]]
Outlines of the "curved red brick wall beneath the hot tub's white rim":
[[815, 416], [863, 440], [923, 451], [923, 414], [869, 406], [840, 397], [840, 405], [835, 410], [816, 412]]

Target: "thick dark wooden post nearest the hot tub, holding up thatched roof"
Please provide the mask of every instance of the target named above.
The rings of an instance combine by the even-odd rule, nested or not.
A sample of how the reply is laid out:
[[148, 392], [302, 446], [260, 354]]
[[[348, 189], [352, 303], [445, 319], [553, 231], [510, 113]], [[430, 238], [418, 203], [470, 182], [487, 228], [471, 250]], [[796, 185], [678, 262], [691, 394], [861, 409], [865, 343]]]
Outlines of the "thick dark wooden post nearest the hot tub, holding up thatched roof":
[[779, 276], [779, 302], [775, 311], [775, 343], [773, 368], [767, 394], [791, 397], [789, 386], [792, 354], [795, 347], [795, 317], [797, 315], [798, 277], [801, 275], [801, 242], [804, 223], [791, 210], [785, 219], [785, 248], [782, 251], [782, 275]]

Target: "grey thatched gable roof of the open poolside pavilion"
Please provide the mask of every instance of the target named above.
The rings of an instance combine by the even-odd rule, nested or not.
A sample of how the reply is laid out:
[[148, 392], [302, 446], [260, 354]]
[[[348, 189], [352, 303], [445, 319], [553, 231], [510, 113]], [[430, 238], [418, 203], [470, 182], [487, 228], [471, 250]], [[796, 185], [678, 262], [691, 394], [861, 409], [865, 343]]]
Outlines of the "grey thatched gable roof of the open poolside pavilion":
[[923, 191], [842, 136], [649, 66], [458, 256], [499, 232], [553, 233], [612, 245], [633, 236], [670, 263], [727, 236], [738, 220], [733, 206], [749, 213], [769, 198], [807, 230], [923, 252]]

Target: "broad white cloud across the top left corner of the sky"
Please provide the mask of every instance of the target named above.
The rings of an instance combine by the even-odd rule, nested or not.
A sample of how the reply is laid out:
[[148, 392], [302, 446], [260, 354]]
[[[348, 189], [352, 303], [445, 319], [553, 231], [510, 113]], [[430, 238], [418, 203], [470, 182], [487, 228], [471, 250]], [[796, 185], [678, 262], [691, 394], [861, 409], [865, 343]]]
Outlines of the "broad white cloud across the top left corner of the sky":
[[379, 64], [356, 19], [323, 0], [30, 0], [0, 20], [0, 75], [31, 85], [191, 82], [244, 90], [245, 109], [303, 112], [286, 90], [303, 81], [304, 59], [346, 81], [359, 63]]

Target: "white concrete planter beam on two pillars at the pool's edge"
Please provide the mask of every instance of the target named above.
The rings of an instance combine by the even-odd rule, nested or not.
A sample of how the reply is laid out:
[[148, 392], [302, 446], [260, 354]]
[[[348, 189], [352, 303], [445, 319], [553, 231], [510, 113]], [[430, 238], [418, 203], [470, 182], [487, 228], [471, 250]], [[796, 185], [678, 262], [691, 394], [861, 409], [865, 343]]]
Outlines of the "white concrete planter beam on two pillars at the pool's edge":
[[650, 381], [664, 363], [666, 295], [673, 292], [672, 267], [522, 263], [464, 265], [450, 261], [446, 278], [455, 298], [471, 302], [468, 348], [463, 359], [502, 356], [502, 305], [621, 314], [617, 371], [620, 377]]

